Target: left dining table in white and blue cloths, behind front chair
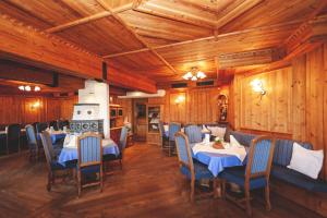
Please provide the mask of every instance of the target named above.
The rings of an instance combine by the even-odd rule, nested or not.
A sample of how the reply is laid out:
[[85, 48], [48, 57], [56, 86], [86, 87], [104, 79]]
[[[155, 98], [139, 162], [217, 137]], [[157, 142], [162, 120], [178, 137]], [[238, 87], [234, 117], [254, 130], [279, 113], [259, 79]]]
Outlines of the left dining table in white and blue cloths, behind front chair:
[[[70, 135], [66, 136], [66, 138], [71, 137]], [[77, 143], [75, 137], [73, 136], [71, 140], [66, 140], [63, 143], [63, 148], [60, 152], [60, 155], [58, 157], [58, 162], [61, 165], [65, 165], [66, 161], [70, 160], [77, 160], [78, 154], [77, 154]], [[102, 140], [102, 154], [104, 155], [116, 155], [118, 156], [120, 154], [118, 145], [111, 140], [111, 138], [105, 138]]]

